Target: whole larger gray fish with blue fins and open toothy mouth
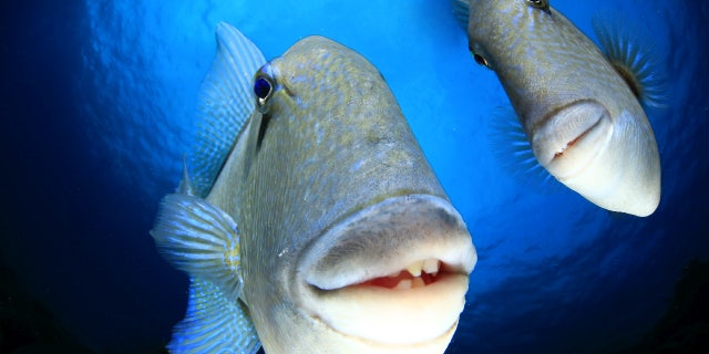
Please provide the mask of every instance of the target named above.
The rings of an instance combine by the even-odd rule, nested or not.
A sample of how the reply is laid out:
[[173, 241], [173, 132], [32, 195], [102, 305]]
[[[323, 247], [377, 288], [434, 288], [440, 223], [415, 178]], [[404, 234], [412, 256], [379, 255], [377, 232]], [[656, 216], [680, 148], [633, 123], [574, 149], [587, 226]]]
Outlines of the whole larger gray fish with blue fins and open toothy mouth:
[[322, 37], [269, 62], [216, 37], [202, 145], [151, 231], [191, 279], [168, 350], [442, 353], [476, 252], [383, 76]]

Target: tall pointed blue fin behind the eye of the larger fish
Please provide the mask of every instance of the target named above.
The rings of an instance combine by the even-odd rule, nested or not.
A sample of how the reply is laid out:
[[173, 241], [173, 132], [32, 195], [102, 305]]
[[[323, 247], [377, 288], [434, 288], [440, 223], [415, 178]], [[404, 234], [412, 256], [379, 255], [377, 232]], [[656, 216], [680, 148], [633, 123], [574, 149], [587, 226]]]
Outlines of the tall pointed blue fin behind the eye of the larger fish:
[[253, 77], [266, 63], [264, 54], [236, 28], [220, 22], [217, 53], [202, 83], [198, 133], [191, 155], [197, 196], [205, 197], [242, 127], [255, 108]]

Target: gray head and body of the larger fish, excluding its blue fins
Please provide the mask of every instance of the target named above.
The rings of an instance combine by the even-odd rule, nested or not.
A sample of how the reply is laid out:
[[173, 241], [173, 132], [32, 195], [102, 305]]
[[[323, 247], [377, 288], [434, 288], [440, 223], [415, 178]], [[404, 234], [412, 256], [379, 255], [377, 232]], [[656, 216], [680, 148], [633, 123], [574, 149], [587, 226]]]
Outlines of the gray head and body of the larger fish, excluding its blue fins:
[[309, 37], [254, 86], [236, 222], [266, 352], [442, 353], [476, 253], [380, 72]]

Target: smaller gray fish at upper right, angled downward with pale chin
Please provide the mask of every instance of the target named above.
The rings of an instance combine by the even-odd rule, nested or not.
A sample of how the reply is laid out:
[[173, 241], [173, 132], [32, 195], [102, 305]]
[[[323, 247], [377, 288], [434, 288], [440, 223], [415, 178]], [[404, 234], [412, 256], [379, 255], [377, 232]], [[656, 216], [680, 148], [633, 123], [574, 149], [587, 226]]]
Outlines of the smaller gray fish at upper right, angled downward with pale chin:
[[662, 100], [653, 45], [630, 40], [617, 19], [595, 21], [602, 51], [548, 0], [453, 7], [475, 62], [496, 73], [538, 164], [602, 208], [653, 214], [660, 159], [643, 107]]

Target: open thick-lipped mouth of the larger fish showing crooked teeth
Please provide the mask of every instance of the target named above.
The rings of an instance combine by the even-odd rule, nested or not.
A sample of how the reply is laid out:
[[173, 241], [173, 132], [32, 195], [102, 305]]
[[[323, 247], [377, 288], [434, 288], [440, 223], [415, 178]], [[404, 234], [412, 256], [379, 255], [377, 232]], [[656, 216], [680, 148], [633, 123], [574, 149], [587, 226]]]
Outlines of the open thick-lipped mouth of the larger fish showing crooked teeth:
[[439, 197], [392, 197], [329, 228], [301, 253], [300, 301], [341, 335], [378, 345], [448, 344], [477, 257]]

